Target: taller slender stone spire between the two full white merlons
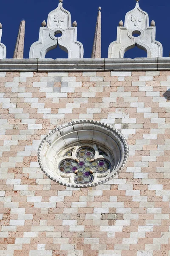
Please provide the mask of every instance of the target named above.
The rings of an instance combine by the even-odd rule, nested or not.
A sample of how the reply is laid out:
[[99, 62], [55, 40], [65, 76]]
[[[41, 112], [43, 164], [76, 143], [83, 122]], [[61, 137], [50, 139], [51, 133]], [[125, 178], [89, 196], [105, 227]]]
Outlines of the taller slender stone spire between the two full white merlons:
[[101, 58], [101, 10], [99, 7], [91, 58]]

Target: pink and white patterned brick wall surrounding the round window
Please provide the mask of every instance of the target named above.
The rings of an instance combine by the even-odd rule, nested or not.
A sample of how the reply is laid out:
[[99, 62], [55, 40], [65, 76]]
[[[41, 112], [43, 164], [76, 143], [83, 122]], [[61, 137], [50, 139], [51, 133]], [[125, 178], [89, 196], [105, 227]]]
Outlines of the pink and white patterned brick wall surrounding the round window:
[[[170, 256], [168, 89], [170, 71], [1, 72], [0, 255]], [[124, 134], [119, 177], [73, 189], [42, 173], [40, 141], [75, 119]]]

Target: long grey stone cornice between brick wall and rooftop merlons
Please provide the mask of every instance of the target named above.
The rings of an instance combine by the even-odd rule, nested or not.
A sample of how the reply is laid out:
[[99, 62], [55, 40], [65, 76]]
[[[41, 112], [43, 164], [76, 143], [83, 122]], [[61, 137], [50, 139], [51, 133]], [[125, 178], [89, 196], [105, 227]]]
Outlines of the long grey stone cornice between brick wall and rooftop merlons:
[[170, 58], [0, 59], [0, 72], [170, 70]]

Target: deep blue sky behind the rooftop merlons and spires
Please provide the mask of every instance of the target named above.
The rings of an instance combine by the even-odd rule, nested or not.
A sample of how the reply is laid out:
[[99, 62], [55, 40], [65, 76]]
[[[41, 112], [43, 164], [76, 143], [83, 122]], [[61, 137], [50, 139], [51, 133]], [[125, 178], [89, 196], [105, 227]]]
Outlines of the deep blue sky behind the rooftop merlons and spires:
[[[78, 23], [78, 41], [84, 46], [84, 58], [91, 58], [91, 49], [96, 26], [98, 7], [102, 7], [102, 58], [108, 57], [108, 46], [116, 40], [119, 20], [125, 20], [126, 12], [135, 7], [136, 0], [63, 0], [63, 7], [71, 12], [72, 22]], [[140, 8], [149, 14], [150, 21], [156, 22], [156, 40], [163, 44], [163, 56], [169, 57], [170, 1], [140, 0]], [[7, 58], [12, 58], [21, 20], [26, 20], [24, 58], [28, 58], [32, 43], [38, 41], [41, 22], [47, 20], [48, 13], [57, 8], [58, 0], [6, 0], [1, 3], [0, 22], [3, 24], [1, 42], [7, 47]], [[140, 49], [129, 50], [125, 57], [145, 57]], [[48, 58], [67, 58], [61, 49], [54, 49]]]

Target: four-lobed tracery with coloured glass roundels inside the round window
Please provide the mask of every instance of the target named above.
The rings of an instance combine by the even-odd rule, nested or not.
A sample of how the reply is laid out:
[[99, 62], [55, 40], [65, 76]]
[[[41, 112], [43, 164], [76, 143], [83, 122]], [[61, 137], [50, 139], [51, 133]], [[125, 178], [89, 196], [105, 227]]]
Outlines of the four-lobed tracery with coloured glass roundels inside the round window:
[[[73, 157], [73, 151], [75, 157]], [[106, 158], [108, 155], [99, 148], [97, 148], [97, 154], [94, 148], [88, 146], [72, 148], [66, 152], [65, 159], [59, 163], [59, 170], [66, 175], [74, 173], [76, 184], [92, 183], [95, 174], [97, 177], [108, 175], [111, 163]]]

